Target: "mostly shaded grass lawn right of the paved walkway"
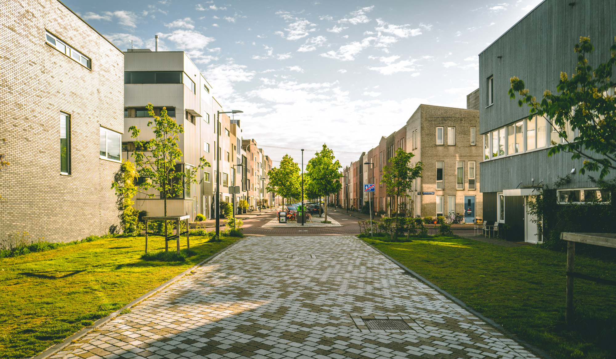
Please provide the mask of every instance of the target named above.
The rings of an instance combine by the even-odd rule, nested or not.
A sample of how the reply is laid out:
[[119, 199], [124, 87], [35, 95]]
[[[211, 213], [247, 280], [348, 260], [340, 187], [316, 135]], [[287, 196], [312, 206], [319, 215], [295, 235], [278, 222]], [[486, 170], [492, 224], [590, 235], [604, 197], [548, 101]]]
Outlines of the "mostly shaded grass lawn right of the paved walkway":
[[[565, 253], [462, 237], [366, 242], [556, 359], [616, 358], [616, 286], [576, 278], [566, 325]], [[575, 271], [616, 280], [616, 261], [576, 255]]]

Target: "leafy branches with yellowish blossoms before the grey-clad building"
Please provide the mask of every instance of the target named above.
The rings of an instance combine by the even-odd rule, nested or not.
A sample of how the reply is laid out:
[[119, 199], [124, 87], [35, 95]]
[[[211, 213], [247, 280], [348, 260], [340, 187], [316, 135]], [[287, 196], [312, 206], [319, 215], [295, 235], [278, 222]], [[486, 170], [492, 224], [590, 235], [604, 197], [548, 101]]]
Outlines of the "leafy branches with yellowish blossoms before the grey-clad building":
[[[614, 41], [610, 59], [593, 69], [586, 60], [586, 55], [594, 50], [593, 44], [590, 37], [580, 37], [580, 44], [573, 47], [578, 60], [575, 74], [569, 79], [567, 73], [561, 73], [556, 86], [559, 95], [546, 90], [539, 102], [517, 77], [511, 77], [509, 89], [509, 97], [514, 99], [519, 94], [518, 105], [527, 104], [530, 114], [552, 120], [551, 125], [562, 140], [552, 141], [548, 156], [570, 152], [572, 159], [584, 159], [581, 175], [586, 170], [600, 171], [599, 179], [616, 169], [616, 97], [609, 94], [615, 85], [610, 80], [616, 63], [616, 37]], [[576, 131], [578, 136], [574, 135]]]

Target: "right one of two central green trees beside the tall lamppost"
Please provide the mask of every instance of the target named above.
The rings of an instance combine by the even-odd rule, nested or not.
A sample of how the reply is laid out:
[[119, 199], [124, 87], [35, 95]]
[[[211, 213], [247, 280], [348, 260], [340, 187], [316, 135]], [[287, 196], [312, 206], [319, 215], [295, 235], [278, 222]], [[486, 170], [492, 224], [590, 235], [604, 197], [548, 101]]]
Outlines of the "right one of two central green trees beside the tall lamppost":
[[[306, 165], [307, 177], [310, 178], [315, 193], [326, 197], [340, 191], [342, 183], [340, 183], [341, 174], [338, 168], [342, 166], [334, 157], [334, 151], [323, 143], [323, 149], [316, 152], [315, 157], [310, 159]], [[327, 207], [325, 203], [325, 221], [327, 221]]]

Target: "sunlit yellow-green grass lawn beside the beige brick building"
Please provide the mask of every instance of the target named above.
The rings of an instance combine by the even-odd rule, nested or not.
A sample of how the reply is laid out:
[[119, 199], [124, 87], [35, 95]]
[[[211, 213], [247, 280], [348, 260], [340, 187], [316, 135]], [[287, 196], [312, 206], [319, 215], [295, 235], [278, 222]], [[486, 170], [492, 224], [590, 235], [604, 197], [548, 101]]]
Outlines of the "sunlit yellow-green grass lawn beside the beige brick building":
[[[0, 258], [0, 358], [31, 357], [42, 352], [237, 238], [207, 240], [191, 236], [190, 249], [197, 254], [185, 262], [140, 259], [144, 237], [99, 239]], [[183, 244], [185, 248], [185, 240]], [[150, 236], [148, 247], [164, 250], [163, 237]], [[169, 247], [175, 248], [175, 242]]]

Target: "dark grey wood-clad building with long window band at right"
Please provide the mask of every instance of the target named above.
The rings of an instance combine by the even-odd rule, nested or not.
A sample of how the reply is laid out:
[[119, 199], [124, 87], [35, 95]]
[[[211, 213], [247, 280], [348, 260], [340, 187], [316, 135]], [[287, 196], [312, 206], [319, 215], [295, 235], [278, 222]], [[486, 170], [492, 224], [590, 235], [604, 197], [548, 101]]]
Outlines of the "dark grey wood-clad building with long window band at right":
[[596, 192], [588, 177], [578, 174], [583, 159], [572, 160], [567, 153], [548, 157], [551, 143], [561, 139], [550, 119], [529, 116], [527, 106], [520, 108], [517, 99], [509, 98], [509, 79], [522, 79], [538, 99], [545, 90], [557, 93], [561, 71], [575, 70], [573, 45], [580, 36], [590, 36], [594, 45], [588, 57], [594, 68], [609, 59], [615, 34], [613, 0], [546, 0], [479, 54], [477, 141], [484, 152], [483, 216], [488, 222], [507, 224], [508, 239], [541, 241], [535, 218], [528, 213], [538, 188], [570, 175], [571, 182], [559, 190], [559, 203], [582, 203], [585, 194]]

